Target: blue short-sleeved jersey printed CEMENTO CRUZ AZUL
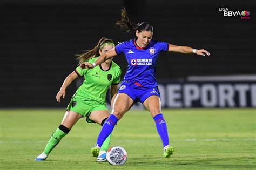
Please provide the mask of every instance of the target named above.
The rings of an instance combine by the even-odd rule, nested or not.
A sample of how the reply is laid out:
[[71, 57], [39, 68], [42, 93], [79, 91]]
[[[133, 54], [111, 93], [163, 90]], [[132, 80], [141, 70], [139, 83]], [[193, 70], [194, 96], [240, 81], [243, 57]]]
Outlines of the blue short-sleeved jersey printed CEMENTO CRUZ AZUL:
[[137, 46], [136, 39], [123, 42], [115, 47], [116, 53], [124, 53], [128, 68], [123, 82], [129, 85], [141, 87], [156, 87], [156, 64], [160, 52], [168, 51], [169, 45], [157, 40], [151, 40], [150, 43], [142, 49]]

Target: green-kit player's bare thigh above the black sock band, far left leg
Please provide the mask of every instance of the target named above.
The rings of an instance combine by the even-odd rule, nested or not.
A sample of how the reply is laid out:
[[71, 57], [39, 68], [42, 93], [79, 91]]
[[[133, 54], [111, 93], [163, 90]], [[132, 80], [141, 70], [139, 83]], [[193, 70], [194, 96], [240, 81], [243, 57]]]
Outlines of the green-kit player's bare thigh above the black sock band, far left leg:
[[82, 118], [82, 115], [74, 111], [68, 111], [68, 113], [65, 114], [61, 124], [71, 130], [73, 125], [75, 125], [80, 118]]

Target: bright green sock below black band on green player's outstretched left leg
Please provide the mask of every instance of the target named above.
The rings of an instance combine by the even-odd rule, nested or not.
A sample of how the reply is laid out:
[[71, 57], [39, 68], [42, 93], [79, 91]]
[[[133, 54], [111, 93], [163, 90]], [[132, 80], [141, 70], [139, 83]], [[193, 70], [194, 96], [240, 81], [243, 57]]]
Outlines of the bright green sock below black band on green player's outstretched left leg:
[[58, 145], [59, 141], [65, 137], [65, 135], [68, 133], [64, 133], [62, 130], [60, 130], [59, 128], [57, 128], [57, 130], [55, 132], [52, 133], [51, 137], [49, 138], [49, 141], [44, 149], [44, 153], [45, 154], [49, 154], [52, 149]]

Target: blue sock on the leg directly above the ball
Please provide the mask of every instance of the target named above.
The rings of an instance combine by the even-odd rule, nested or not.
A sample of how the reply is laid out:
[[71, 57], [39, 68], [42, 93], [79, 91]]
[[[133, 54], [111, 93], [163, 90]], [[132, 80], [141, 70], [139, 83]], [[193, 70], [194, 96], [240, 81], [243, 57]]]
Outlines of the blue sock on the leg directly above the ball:
[[105, 121], [105, 123], [102, 126], [102, 130], [99, 133], [96, 146], [102, 147], [103, 142], [113, 131], [113, 128], [117, 124], [117, 121], [117, 117], [115, 117], [113, 114], [109, 116], [109, 118]]

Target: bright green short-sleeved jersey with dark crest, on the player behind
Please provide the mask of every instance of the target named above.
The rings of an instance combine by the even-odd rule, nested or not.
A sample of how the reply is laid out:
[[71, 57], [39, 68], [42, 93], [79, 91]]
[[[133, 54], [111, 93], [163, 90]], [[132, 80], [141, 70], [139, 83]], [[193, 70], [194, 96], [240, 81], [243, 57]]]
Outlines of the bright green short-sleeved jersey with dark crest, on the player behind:
[[[93, 63], [97, 58], [90, 59], [89, 62]], [[90, 70], [81, 70], [78, 66], [75, 72], [78, 76], [84, 77], [83, 84], [76, 91], [76, 98], [96, 100], [103, 104], [106, 103], [107, 89], [111, 84], [119, 84], [121, 76], [120, 67], [113, 61], [110, 64], [110, 68], [105, 71], [101, 65], [98, 65]]]

